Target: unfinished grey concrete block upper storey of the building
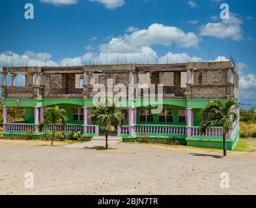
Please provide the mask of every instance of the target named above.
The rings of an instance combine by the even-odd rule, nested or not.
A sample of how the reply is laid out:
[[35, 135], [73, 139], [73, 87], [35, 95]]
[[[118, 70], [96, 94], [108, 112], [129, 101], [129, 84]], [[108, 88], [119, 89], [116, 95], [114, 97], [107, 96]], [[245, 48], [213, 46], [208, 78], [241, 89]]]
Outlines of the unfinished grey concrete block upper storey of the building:
[[[104, 70], [111, 72], [104, 73]], [[192, 84], [186, 85], [186, 70], [193, 73]], [[162, 83], [165, 99], [238, 98], [238, 73], [232, 62], [197, 62], [182, 66], [140, 65], [138, 69], [136, 66], [122, 64], [74, 68], [3, 68], [3, 73], [22, 72], [26, 75], [25, 87], [3, 86], [3, 98], [40, 98], [40, 95], [43, 98], [93, 98], [97, 93], [92, 92], [93, 85], [101, 83], [107, 86], [107, 79], [113, 79], [114, 86], [125, 85], [128, 94], [130, 71], [138, 73], [138, 83]], [[38, 73], [42, 74], [42, 80], [40, 85], [33, 86], [33, 76]], [[92, 74], [93, 82], [92, 85], [79, 88], [83, 73]], [[117, 93], [120, 94], [114, 92], [113, 96]]]

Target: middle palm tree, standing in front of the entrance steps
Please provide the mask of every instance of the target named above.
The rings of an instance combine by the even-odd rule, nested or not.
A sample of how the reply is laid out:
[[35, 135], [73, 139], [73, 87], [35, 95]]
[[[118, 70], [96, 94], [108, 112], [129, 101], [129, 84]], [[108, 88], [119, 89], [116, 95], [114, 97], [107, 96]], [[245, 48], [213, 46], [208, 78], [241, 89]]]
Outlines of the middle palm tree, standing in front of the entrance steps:
[[122, 125], [124, 122], [124, 114], [117, 109], [115, 103], [113, 101], [111, 105], [107, 105], [107, 103], [109, 101], [106, 101], [105, 105], [94, 107], [91, 115], [88, 117], [89, 120], [95, 120], [103, 125], [102, 129], [105, 130], [106, 149], [108, 149], [107, 137], [109, 132], [115, 131], [115, 127]]

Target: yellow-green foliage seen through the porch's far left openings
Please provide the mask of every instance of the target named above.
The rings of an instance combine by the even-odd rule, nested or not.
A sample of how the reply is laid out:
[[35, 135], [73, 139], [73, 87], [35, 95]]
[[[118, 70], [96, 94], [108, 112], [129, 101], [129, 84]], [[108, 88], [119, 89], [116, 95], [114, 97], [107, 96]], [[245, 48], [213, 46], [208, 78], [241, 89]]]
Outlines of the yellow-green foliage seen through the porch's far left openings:
[[[25, 109], [23, 107], [8, 107], [8, 122], [25, 120]], [[3, 125], [3, 105], [0, 105], [0, 126]]]

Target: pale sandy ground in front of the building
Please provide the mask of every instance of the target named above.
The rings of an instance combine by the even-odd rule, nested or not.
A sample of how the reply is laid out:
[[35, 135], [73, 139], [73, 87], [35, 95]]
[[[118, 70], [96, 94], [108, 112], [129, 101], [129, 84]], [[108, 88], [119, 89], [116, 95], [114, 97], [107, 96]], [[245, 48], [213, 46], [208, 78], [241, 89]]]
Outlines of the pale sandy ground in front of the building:
[[[0, 141], [0, 194], [256, 194], [256, 154], [143, 144]], [[22, 143], [22, 142], [21, 142]], [[72, 148], [70, 148], [72, 147]], [[34, 188], [25, 188], [25, 173]], [[229, 188], [220, 188], [220, 174]]]

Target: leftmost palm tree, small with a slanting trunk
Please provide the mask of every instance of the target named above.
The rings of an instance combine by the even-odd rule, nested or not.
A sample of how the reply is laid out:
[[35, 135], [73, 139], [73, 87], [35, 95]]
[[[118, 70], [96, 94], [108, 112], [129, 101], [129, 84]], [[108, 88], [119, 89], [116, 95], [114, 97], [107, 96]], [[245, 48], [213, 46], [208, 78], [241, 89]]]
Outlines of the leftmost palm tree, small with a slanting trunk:
[[47, 125], [53, 125], [53, 135], [51, 137], [51, 146], [53, 146], [57, 125], [61, 125], [61, 130], [64, 131], [66, 122], [68, 122], [66, 111], [64, 109], [59, 109], [56, 105], [55, 107], [49, 107], [44, 110], [44, 120], [39, 122], [38, 129], [42, 132]]

